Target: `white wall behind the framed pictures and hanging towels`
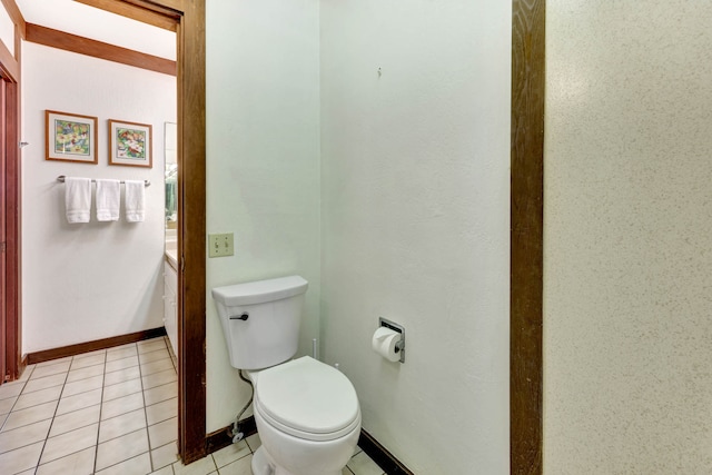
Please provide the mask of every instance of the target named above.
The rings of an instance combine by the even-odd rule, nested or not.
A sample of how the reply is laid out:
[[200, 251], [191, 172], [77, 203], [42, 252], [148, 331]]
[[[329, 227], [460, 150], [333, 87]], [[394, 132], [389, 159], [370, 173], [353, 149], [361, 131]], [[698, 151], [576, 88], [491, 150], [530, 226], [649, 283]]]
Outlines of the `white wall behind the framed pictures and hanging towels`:
[[[176, 79], [34, 43], [22, 48], [22, 349], [162, 326], [164, 122]], [[44, 110], [98, 117], [98, 165], [44, 159]], [[108, 119], [154, 126], [154, 167], [108, 165]], [[69, 225], [59, 175], [148, 179], [147, 217]]]

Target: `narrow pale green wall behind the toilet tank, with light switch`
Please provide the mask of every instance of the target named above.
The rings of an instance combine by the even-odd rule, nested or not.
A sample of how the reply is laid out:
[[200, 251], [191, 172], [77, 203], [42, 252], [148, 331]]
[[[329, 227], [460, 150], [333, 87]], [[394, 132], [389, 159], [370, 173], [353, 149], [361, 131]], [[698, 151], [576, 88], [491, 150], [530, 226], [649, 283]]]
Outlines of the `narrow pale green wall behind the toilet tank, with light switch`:
[[316, 0], [207, 2], [207, 229], [235, 235], [235, 256], [207, 260], [208, 433], [250, 395], [212, 287], [298, 274], [309, 281], [299, 355], [318, 337], [318, 20]]

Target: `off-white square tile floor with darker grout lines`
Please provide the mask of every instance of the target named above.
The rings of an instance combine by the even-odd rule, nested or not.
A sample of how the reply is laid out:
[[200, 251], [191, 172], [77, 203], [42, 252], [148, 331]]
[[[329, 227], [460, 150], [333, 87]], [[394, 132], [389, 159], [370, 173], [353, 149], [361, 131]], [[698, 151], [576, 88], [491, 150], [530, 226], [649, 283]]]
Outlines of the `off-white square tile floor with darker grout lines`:
[[[254, 435], [185, 466], [166, 337], [28, 366], [0, 386], [0, 474], [251, 475]], [[383, 475], [358, 447], [343, 475]]]

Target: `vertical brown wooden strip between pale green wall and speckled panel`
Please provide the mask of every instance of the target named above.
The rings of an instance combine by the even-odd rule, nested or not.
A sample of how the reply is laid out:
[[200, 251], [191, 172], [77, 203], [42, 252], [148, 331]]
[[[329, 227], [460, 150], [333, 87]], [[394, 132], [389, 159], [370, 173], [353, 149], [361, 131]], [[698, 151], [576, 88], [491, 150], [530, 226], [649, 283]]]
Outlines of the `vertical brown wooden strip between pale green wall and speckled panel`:
[[514, 0], [510, 275], [510, 462], [542, 474], [545, 0]]

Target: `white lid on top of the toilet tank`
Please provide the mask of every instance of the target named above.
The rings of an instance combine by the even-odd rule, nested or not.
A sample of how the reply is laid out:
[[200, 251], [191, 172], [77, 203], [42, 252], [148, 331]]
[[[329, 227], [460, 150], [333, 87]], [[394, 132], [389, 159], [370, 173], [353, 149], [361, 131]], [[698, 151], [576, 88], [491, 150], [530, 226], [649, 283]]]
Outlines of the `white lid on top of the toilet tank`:
[[300, 276], [235, 284], [212, 289], [212, 298], [227, 307], [264, 304], [294, 297], [307, 290], [308, 283]]

